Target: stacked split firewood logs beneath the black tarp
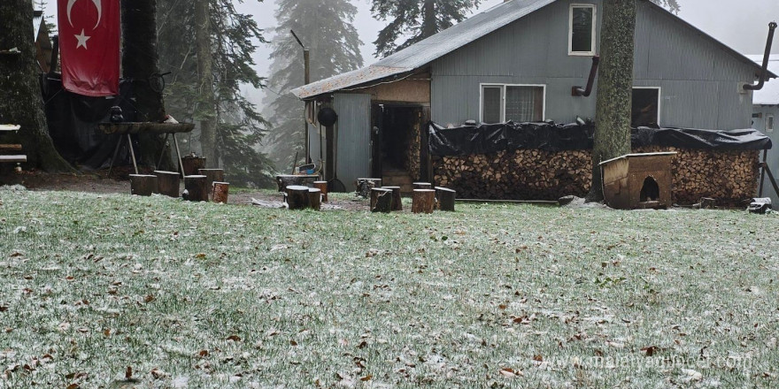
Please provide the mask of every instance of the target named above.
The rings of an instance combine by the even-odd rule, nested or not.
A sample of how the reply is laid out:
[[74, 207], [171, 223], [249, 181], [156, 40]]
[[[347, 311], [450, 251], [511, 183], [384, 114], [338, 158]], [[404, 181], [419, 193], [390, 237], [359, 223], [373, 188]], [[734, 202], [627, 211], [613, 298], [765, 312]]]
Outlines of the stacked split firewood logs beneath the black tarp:
[[[758, 151], [713, 151], [648, 147], [635, 153], [676, 151], [673, 200], [692, 204], [713, 197], [718, 205], [740, 205], [755, 195]], [[489, 155], [436, 156], [436, 185], [459, 198], [557, 200], [586, 195], [591, 180], [590, 150], [519, 149]]]

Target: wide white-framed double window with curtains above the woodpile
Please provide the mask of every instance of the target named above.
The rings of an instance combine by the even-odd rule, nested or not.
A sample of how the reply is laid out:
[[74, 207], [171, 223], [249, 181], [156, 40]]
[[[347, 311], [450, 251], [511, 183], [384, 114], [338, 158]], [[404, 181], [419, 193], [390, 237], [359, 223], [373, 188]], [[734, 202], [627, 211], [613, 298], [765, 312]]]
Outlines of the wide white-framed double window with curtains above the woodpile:
[[546, 115], [546, 86], [482, 84], [482, 123], [542, 121]]

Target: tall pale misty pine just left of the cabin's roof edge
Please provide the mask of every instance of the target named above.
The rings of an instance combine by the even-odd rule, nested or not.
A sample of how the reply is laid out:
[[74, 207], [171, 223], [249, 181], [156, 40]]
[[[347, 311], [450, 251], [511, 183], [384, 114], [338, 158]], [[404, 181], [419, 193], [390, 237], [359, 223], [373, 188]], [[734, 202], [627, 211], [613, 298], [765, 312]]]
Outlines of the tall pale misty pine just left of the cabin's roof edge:
[[[266, 149], [280, 170], [287, 171], [296, 152], [304, 159], [303, 103], [289, 90], [304, 84], [303, 48], [289, 30], [295, 31], [311, 50], [311, 80], [349, 72], [363, 65], [357, 30], [352, 21], [357, 7], [348, 0], [277, 0], [270, 93], [266, 97], [273, 123]], [[311, 156], [318, 161], [319, 156]]]

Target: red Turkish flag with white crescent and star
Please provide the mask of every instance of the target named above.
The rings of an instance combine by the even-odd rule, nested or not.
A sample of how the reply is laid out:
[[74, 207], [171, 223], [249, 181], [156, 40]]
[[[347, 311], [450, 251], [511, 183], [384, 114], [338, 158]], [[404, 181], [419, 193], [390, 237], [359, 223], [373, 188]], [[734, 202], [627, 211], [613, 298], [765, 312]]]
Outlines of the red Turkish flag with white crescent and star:
[[119, 95], [120, 0], [57, 6], [62, 85], [79, 95]]

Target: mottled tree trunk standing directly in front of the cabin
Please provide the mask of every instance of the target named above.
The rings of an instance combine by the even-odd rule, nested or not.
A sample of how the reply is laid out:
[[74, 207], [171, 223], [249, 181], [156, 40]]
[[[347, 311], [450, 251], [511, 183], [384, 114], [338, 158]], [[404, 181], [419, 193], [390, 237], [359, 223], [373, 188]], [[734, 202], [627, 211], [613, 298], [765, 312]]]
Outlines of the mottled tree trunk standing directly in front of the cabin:
[[587, 195], [588, 202], [603, 200], [603, 179], [598, 164], [630, 153], [635, 31], [636, 0], [604, 2], [595, 141], [592, 149], [592, 187]]

